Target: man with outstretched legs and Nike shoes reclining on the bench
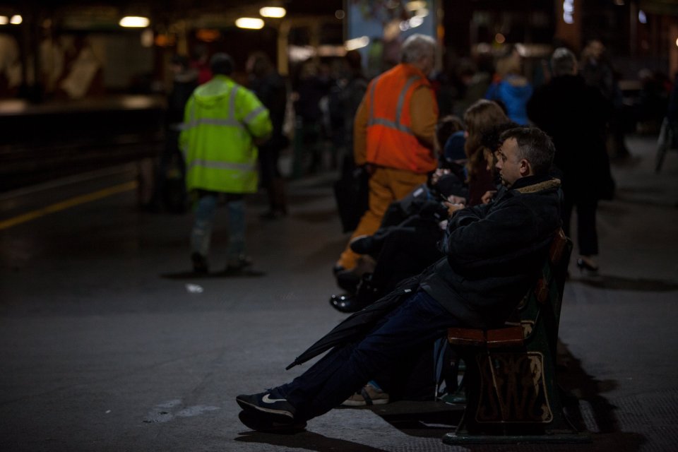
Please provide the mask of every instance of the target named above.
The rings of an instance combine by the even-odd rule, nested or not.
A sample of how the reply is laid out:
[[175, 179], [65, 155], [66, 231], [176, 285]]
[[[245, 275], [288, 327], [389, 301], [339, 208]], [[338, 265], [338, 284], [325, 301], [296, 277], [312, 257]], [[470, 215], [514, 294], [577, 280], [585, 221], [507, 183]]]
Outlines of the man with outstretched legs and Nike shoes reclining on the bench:
[[506, 189], [489, 204], [457, 210], [446, 257], [420, 275], [412, 295], [357, 343], [335, 347], [291, 383], [236, 398], [251, 429], [301, 429], [376, 374], [446, 335], [447, 328], [501, 326], [533, 285], [561, 226], [559, 185], [549, 177], [554, 146], [540, 129], [501, 135], [496, 168]]

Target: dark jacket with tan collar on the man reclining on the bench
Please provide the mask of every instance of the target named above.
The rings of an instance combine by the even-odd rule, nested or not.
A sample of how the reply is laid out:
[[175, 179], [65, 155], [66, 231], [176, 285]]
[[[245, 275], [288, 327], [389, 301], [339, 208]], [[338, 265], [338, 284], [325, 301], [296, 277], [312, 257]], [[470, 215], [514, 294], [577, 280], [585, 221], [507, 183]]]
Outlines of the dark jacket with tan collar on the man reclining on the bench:
[[504, 323], [537, 280], [561, 226], [560, 182], [523, 177], [489, 204], [458, 210], [421, 288], [473, 328]]

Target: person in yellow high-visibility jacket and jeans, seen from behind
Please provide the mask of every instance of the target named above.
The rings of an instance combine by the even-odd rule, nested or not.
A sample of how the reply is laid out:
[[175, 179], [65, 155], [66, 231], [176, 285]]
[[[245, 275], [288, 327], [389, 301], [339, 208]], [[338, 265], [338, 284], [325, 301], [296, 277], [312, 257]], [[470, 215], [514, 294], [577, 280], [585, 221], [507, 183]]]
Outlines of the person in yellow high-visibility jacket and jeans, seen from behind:
[[235, 83], [225, 53], [210, 59], [214, 77], [198, 86], [186, 103], [179, 145], [186, 158], [186, 189], [194, 198], [191, 260], [194, 272], [208, 273], [207, 256], [217, 203], [228, 206], [228, 272], [251, 265], [245, 255], [244, 194], [257, 188], [257, 148], [270, 136], [268, 109]]

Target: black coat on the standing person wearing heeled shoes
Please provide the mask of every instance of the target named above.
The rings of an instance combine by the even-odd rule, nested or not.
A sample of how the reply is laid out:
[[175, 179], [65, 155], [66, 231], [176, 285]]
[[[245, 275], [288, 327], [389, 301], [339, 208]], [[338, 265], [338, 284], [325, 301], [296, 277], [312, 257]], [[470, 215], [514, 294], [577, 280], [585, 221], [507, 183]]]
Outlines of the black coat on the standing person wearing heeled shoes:
[[566, 193], [600, 197], [607, 190], [605, 126], [611, 114], [612, 102], [580, 76], [554, 77], [528, 102], [528, 116], [556, 146], [554, 165], [564, 174]]

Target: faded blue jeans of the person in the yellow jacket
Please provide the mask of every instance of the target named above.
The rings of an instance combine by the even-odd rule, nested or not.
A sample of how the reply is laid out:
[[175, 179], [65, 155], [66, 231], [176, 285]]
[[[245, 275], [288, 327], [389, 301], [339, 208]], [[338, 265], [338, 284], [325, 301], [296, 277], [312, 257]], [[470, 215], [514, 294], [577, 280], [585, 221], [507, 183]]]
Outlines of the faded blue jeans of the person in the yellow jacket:
[[[207, 257], [210, 252], [214, 214], [219, 196], [214, 192], [203, 192], [194, 206], [194, 222], [191, 230], [191, 252]], [[245, 253], [245, 201], [242, 196], [227, 194], [228, 206], [228, 250], [229, 262], [237, 262]]]

